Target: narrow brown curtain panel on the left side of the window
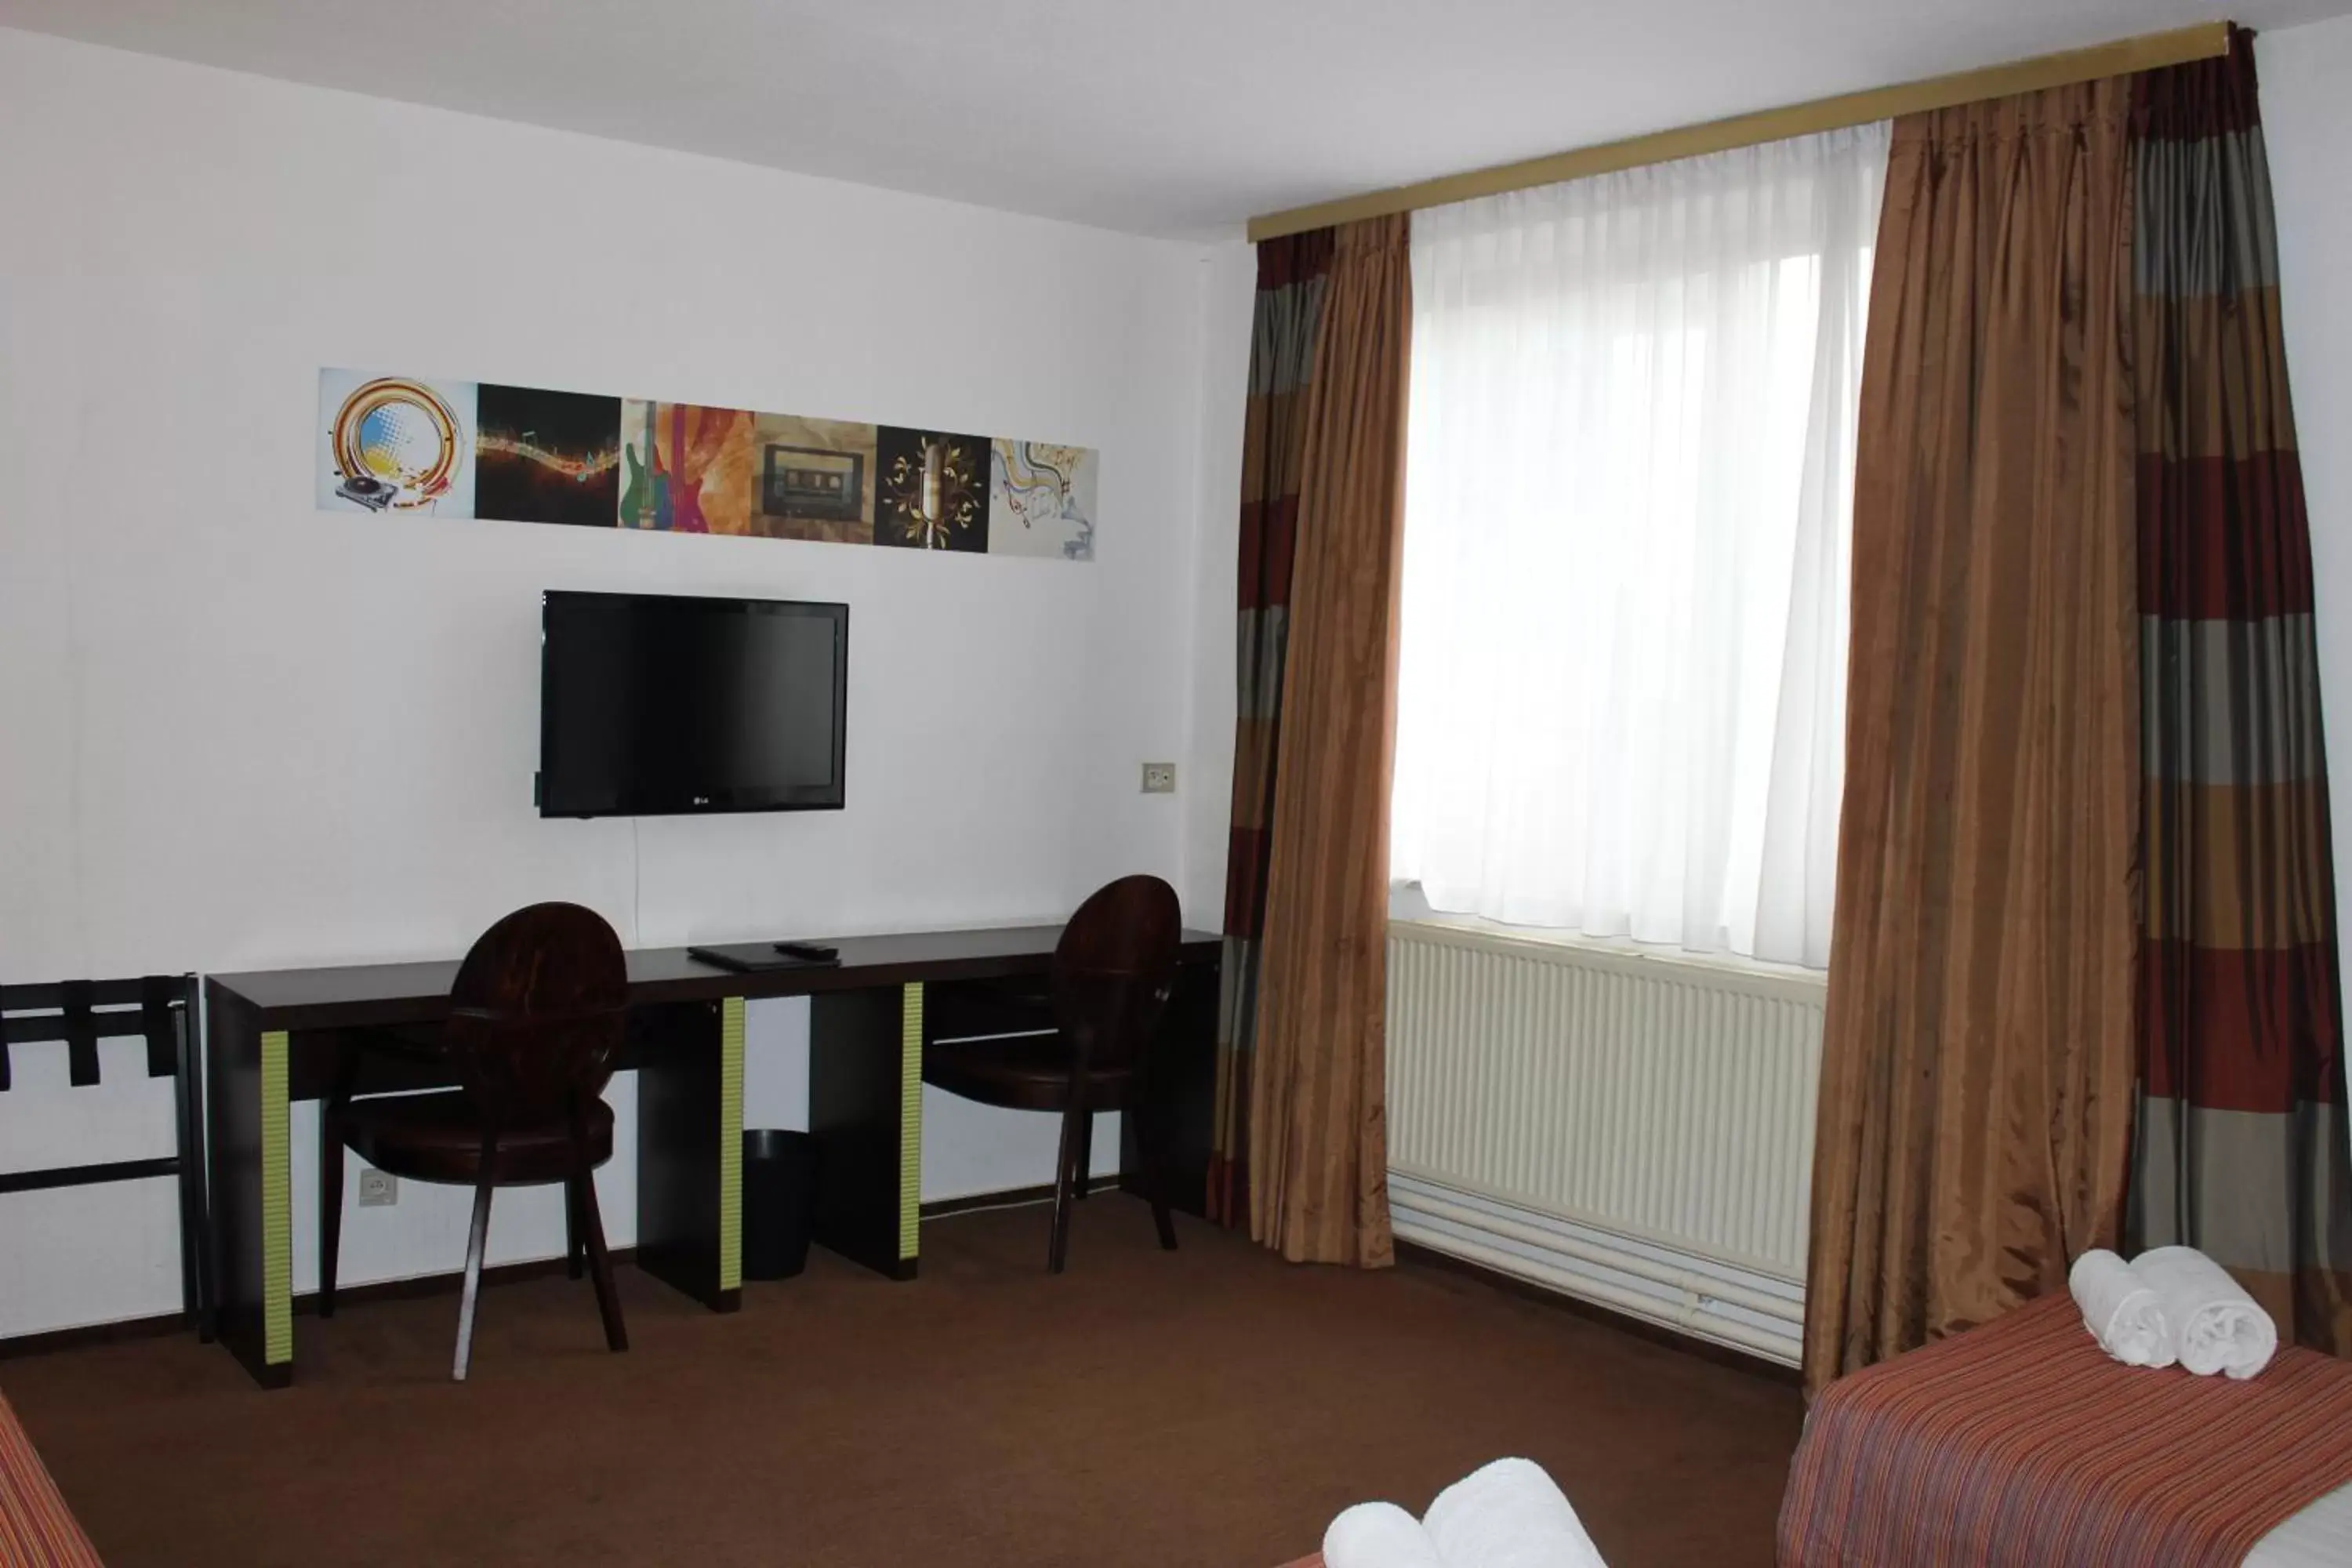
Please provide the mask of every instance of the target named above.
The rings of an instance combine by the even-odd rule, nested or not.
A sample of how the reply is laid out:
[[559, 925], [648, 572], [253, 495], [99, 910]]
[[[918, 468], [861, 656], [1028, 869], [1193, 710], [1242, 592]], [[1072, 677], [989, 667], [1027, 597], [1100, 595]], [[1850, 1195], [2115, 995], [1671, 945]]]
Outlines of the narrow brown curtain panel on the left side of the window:
[[1388, 778], [1411, 292], [1406, 219], [1338, 228], [1298, 465], [1249, 1093], [1249, 1234], [1294, 1262], [1395, 1258]]

